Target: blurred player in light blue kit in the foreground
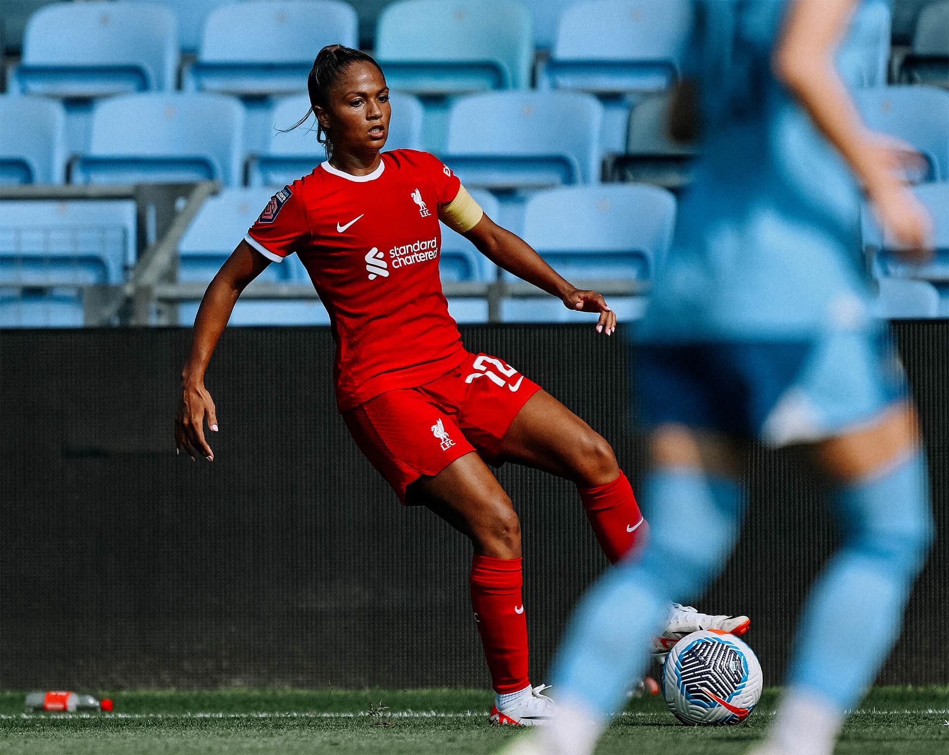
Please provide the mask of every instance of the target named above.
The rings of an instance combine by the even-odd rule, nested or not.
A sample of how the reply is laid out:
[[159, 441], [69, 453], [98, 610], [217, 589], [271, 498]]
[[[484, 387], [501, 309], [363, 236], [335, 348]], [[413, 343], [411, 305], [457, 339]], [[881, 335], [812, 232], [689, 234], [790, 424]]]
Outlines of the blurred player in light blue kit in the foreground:
[[[592, 752], [645, 667], [665, 601], [698, 595], [732, 549], [748, 439], [805, 444], [844, 534], [755, 755], [829, 755], [900, 632], [931, 512], [902, 368], [868, 311], [854, 177], [910, 258], [930, 225], [836, 71], [856, 5], [697, 4], [698, 92], [681, 90], [673, 130], [698, 119], [704, 158], [639, 349], [650, 541], [581, 602], [554, 662], [557, 715], [510, 753]], [[847, 616], [860, 616], [859, 638], [839, 632]]]

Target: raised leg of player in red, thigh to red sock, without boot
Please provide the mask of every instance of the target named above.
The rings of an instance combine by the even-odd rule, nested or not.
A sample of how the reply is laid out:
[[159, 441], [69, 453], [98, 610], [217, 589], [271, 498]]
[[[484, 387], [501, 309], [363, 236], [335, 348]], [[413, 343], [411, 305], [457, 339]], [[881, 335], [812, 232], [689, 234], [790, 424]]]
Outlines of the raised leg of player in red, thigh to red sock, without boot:
[[547, 391], [537, 391], [517, 412], [498, 461], [531, 466], [576, 484], [586, 517], [610, 562], [645, 540], [649, 525], [612, 447]]

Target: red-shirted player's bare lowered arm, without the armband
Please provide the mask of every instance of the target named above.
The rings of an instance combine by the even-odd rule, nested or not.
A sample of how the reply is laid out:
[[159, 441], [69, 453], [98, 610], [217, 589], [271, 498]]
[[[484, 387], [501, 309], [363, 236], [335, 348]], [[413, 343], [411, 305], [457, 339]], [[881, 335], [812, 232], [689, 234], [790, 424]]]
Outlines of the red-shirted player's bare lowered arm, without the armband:
[[204, 373], [211, 362], [214, 347], [231, 319], [237, 297], [257, 275], [264, 272], [270, 260], [259, 254], [245, 240], [214, 275], [214, 280], [201, 299], [195, 317], [191, 356], [181, 371], [181, 401], [175, 420], [175, 444], [180, 451], [195, 459], [200, 453], [209, 462], [214, 451], [204, 438], [204, 424], [217, 432], [217, 413], [214, 401], [204, 387]]

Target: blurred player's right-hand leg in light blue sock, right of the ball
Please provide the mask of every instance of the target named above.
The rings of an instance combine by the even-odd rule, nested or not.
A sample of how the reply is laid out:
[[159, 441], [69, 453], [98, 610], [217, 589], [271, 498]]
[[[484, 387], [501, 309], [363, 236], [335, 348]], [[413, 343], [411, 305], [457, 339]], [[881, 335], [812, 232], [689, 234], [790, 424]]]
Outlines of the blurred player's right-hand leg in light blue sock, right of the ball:
[[[844, 544], [810, 592], [789, 691], [764, 753], [832, 752], [844, 711], [857, 705], [896, 640], [932, 537], [911, 408], [894, 406], [868, 428], [817, 444], [813, 456], [828, 477]], [[860, 615], [859, 642], [840, 642], [833, 628], [842, 615]]]

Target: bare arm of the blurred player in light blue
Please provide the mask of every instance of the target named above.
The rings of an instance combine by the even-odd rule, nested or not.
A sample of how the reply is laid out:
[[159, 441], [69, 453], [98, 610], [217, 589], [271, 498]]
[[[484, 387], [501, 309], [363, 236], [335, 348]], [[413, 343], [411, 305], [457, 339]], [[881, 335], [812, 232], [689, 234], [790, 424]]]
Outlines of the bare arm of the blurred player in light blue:
[[795, 0], [774, 50], [774, 75], [847, 160], [884, 225], [905, 246], [923, 249], [929, 218], [894, 176], [898, 159], [865, 128], [835, 66], [837, 47], [857, 5], [858, 0]]

